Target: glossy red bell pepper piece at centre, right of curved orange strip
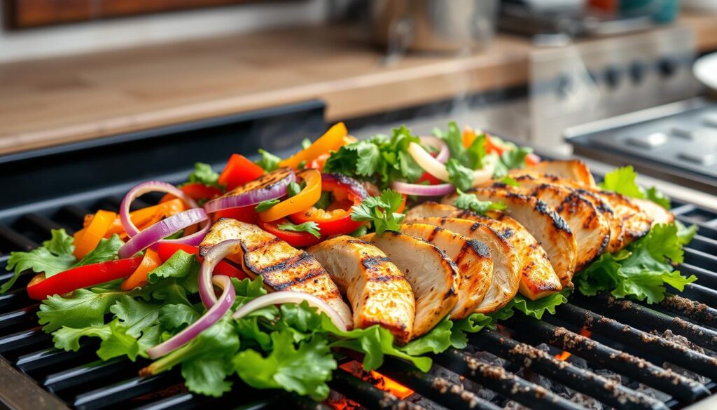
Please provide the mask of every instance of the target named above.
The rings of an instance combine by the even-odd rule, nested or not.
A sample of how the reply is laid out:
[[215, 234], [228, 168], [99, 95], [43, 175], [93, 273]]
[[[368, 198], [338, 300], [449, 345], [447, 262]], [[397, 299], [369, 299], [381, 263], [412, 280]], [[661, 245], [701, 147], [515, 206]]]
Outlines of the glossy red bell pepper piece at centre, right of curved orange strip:
[[[289, 215], [289, 219], [296, 224], [315, 222], [321, 232], [321, 236], [342, 235], [359, 229], [363, 222], [351, 220], [351, 207], [361, 204], [361, 196], [348, 184], [334, 180], [323, 180], [321, 190], [331, 192], [333, 202], [326, 210], [310, 207], [298, 213]], [[365, 195], [365, 194], [364, 194]]]

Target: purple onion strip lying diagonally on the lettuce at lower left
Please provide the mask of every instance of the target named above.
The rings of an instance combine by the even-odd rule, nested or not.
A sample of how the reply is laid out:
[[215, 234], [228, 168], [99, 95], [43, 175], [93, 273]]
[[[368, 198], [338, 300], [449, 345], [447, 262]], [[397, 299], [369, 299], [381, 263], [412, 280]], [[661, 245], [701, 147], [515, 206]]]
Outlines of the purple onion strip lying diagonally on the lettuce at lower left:
[[204, 316], [200, 317], [199, 320], [192, 323], [186, 329], [177, 333], [170, 339], [160, 343], [153, 348], [147, 349], [147, 355], [151, 359], [161, 358], [163, 355], [170, 353], [181, 346], [191, 342], [194, 337], [197, 337], [199, 333], [204, 332], [215, 323], [219, 322], [224, 315], [229, 312], [236, 299], [236, 292], [234, 292], [234, 286], [232, 286], [232, 280], [229, 276], [214, 276], [214, 284], [223, 289], [222, 296], [219, 297], [219, 302], [215, 303], [209, 310], [206, 311]]

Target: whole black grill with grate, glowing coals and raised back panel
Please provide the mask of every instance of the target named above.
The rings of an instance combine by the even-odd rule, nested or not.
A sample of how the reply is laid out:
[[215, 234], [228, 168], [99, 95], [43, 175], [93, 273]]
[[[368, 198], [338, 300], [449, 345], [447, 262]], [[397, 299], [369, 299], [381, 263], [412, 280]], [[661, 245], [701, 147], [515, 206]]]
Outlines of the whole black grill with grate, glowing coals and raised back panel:
[[[179, 183], [194, 161], [221, 167], [231, 152], [285, 152], [325, 129], [319, 102], [57, 146], [0, 158], [0, 267], [49, 230], [81, 228], [85, 214], [117, 210], [141, 180]], [[141, 207], [158, 200], [148, 195]], [[657, 305], [583, 297], [543, 320], [517, 314], [498, 330], [470, 335], [464, 350], [435, 356], [429, 373], [386, 358], [380, 375], [408, 391], [394, 395], [384, 379], [351, 371], [341, 360], [331, 397], [316, 403], [283, 391], [258, 391], [236, 380], [221, 398], [186, 391], [179, 370], [141, 378], [148, 360], [103, 362], [97, 345], [77, 352], [52, 347], [37, 325], [39, 304], [24, 286], [31, 272], [0, 295], [0, 401], [11, 409], [714, 409], [717, 407], [717, 213], [688, 203], [673, 212], [699, 225], [685, 248], [684, 274], [698, 276]], [[0, 273], [0, 281], [11, 274]], [[379, 375], [379, 376], [380, 376]]]

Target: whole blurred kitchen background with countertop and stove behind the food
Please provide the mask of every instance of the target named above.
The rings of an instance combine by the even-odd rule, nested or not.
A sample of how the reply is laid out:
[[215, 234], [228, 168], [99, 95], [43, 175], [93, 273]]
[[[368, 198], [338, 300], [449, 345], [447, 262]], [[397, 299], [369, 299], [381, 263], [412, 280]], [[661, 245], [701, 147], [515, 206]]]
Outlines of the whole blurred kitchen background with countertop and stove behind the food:
[[701, 196], [717, 194], [717, 0], [3, 5], [0, 163], [172, 126], [234, 139], [184, 167], [217, 146], [292, 149], [335, 121], [367, 136], [454, 119], [717, 206]]

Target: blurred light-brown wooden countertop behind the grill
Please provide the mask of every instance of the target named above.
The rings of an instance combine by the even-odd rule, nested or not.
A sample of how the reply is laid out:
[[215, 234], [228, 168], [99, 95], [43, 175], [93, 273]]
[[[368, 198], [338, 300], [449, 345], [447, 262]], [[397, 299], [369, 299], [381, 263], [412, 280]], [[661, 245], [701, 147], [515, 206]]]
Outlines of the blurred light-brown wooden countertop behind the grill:
[[[683, 17], [700, 50], [717, 17]], [[330, 121], [523, 85], [532, 46], [384, 65], [350, 29], [315, 27], [0, 65], [0, 154], [321, 98]], [[462, 75], [457, 75], [462, 74]]]

